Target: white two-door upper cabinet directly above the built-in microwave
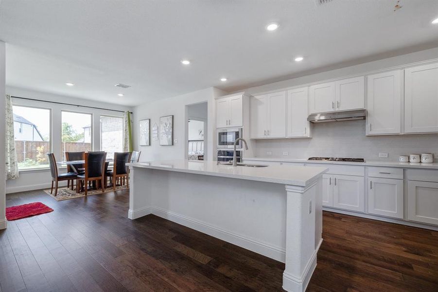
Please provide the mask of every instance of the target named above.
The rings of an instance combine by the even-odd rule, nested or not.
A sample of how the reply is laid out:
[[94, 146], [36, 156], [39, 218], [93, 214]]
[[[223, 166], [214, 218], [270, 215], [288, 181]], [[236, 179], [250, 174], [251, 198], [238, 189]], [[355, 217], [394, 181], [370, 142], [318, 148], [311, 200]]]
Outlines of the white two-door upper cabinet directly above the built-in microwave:
[[243, 95], [216, 100], [216, 128], [243, 126]]

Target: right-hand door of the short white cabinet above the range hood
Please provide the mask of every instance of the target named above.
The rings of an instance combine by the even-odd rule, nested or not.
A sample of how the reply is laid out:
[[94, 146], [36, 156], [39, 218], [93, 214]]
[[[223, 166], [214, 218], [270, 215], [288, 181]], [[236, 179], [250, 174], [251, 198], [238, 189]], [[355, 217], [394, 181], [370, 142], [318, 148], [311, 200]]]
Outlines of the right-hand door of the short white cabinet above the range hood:
[[365, 108], [364, 76], [338, 80], [336, 87], [336, 110]]

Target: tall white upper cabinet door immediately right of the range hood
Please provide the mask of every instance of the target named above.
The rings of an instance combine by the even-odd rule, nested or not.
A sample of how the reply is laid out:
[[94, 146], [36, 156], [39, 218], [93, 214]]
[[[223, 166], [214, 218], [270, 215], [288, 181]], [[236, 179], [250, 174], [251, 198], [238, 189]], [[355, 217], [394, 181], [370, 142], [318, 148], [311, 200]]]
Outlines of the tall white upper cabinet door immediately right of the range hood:
[[368, 76], [367, 135], [400, 134], [402, 71]]

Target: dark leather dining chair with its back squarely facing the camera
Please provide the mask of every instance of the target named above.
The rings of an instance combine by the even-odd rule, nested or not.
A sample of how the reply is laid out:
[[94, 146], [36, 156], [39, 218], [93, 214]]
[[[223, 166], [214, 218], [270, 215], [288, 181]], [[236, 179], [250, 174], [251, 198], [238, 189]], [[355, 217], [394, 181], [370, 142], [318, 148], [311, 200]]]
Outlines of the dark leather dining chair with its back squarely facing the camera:
[[88, 182], [91, 181], [96, 181], [97, 186], [100, 183], [102, 192], [105, 192], [105, 159], [106, 152], [85, 153], [85, 173], [77, 176], [77, 192], [85, 186], [85, 195], [87, 196]]

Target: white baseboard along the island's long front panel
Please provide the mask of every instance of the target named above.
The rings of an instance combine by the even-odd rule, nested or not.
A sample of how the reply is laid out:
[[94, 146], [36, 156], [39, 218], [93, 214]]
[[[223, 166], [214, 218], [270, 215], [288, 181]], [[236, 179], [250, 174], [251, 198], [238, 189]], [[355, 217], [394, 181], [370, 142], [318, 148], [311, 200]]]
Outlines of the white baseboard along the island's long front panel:
[[168, 219], [170, 221], [192, 228], [199, 232], [208, 234], [212, 237], [216, 237], [237, 246], [243, 247], [252, 252], [273, 258], [280, 262], [284, 263], [285, 261], [286, 252], [283, 248], [273, 246], [266, 242], [262, 242], [250, 237], [235, 234], [228, 230], [224, 230], [219, 227], [210, 225], [209, 223], [189, 218], [184, 215], [175, 214], [161, 208], [152, 207], [152, 209], [152, 214], [157, 215], [158, 217]]

